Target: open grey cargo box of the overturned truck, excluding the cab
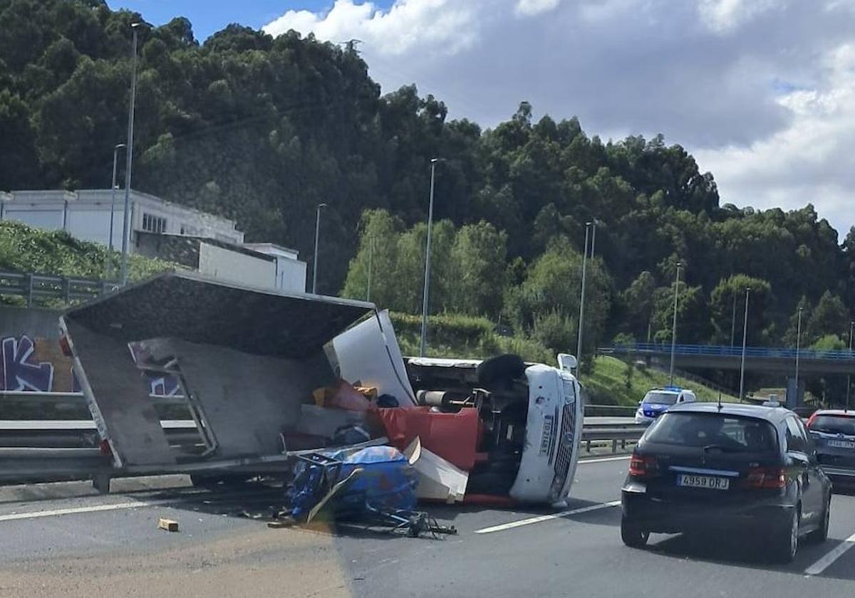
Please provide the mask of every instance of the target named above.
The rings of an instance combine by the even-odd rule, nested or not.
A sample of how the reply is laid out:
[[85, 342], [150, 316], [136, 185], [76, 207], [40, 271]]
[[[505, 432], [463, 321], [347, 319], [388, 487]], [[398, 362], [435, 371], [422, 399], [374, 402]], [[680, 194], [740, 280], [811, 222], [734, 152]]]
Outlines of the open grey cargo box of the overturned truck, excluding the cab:
[[[280, 453], [280, 431], [335, 379], [324, 345], [372, 313], [370, 303], [171, 273], [70, 309], [61, 325], [115, 465], [169, 468]], [[144, 347], [146, 364], [128, 343]], [[170, 448], [140, 365], [177, 380], [201, 456]]]

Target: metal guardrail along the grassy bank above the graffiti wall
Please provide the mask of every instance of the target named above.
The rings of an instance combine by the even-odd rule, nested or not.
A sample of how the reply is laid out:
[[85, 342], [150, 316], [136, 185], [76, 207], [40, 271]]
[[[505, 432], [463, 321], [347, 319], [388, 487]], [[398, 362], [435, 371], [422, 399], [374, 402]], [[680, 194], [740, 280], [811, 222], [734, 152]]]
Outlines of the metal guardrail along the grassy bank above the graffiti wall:
[[0, 272], [0, 295], [22, 296], [27, 307], [39, 299], [85, 301], [118, 288], [118, 282], [93, 278], [68, 278], [48, 274]]

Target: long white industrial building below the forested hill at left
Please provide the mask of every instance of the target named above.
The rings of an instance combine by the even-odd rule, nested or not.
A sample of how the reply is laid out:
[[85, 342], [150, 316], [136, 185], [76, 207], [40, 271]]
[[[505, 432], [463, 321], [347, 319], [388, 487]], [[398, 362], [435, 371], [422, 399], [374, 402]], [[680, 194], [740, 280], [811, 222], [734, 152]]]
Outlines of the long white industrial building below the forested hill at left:
[[[274, 243], [244, 243], [234, 220], [131, 191], [129, 250], [200, 273], [280, 290], [303, 292], [306, 262]], [[121, 190], [0, 191], [0, 220], [15, 220], [121, 250], [125, 193]]]

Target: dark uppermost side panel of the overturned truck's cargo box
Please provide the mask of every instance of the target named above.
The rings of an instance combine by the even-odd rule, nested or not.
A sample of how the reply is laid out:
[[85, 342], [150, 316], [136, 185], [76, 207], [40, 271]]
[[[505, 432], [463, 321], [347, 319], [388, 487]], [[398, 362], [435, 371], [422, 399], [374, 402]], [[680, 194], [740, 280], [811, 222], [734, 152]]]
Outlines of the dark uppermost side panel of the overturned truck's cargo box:
[[252, 355], [302, 358], [373, 311], [370, 303], [170, 273], [70, 309], [65, 317], [126, 342], [173, 337]]

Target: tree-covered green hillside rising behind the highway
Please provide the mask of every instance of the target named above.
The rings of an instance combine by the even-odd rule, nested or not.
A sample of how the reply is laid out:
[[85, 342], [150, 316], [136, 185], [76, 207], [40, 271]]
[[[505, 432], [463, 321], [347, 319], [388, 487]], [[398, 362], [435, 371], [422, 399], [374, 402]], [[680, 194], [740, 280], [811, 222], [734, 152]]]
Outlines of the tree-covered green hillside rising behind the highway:
[[[140, 18], [100, 0], [0, 0], [0, 190], [109, 185]], [[848, 331], [855, 233], [839, 239], [819, 219], [809, 201], [820, 197], [789, 213], [737, 208], [680, 145], [604, 142], [575, 118], [534, 118], [526, 102], [492, 129], [449, 120], [415, 85], [381, 95], [353, 45], [297, 32], [234, 25], [200, 44], [179, 18], [142, 31], [139, 49], [133, 187], [308, 259], [327, 202], [324, 293], [365, 296], [370, 255], [372, 300], [419, 310], [429, 161], [441, 156], [435, 311], [574, 347], [596, 220], [589, 346], [667, 340], [677, 261], [683, 342], [730, 343], [734, 297], [740, 338], [746, 286], [749, 343], [792, 343], [799, 304], [806, 344]]]

